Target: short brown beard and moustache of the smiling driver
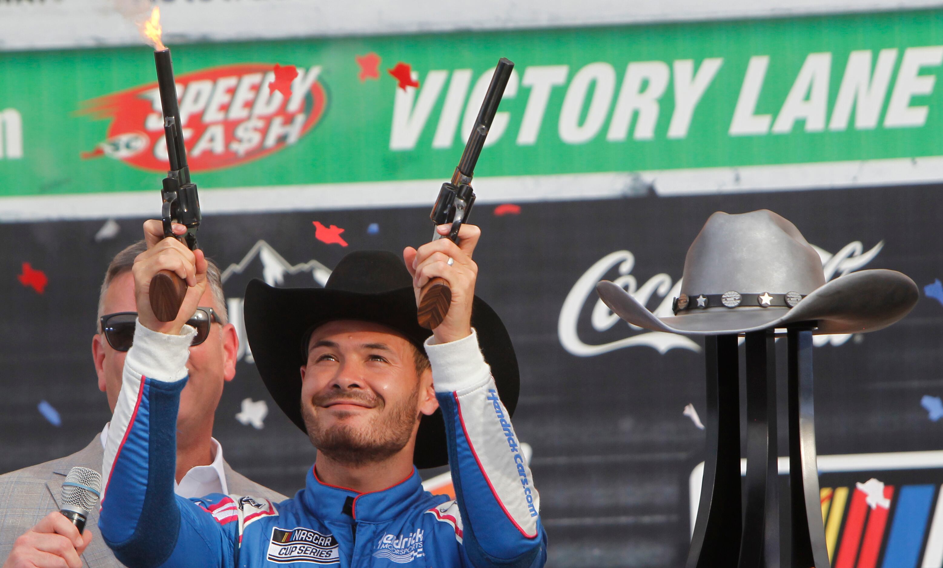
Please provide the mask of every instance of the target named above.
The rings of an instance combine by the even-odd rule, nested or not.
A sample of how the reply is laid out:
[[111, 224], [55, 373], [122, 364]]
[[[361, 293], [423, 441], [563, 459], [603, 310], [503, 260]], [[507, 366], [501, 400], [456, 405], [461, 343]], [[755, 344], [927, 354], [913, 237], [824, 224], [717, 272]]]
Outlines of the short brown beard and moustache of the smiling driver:
[[[302, 401], [301, 414], [305, 419], [307, 437], [311, 444], [331, 460], [351, 466], [379, 463], [402, 450], [412, 438], [419, 422], [416, 410], [420, 385], [403, 402], [387, 408], [382, 400], [359, 390], [332, 391], [315, 397], [310, 404]], [[314, 409], [329, 404], [332, 400], [358, 400], [379, 408], [366, 426], [355, 427], [342, 420], [324, 427]]]

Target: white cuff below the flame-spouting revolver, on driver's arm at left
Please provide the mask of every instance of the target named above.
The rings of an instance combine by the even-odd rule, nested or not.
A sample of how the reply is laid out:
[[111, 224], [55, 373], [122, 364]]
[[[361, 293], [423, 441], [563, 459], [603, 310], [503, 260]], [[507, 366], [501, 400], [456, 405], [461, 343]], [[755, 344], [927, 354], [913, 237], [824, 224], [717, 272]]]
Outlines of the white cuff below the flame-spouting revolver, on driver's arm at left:
[[155, 381], [174, 382], [187, 376], [190, 344], [196, 328], [184, 325], [179, 335], [169, 335], [147, 329], [137, 321], [134, 344], [127, 351], [124, 365], [136, 375]]

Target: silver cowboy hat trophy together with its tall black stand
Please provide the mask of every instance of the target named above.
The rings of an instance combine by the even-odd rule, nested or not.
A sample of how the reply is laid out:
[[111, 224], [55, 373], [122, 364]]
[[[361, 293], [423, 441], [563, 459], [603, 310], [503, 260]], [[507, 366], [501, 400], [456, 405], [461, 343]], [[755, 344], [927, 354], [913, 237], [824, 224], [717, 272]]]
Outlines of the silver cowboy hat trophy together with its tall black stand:
[[[828, 568], [819, 502], [812, 334], [880, 330], [906, 316], [917, 284], [894, 270], [861, 270], [826, 283], [819, 254], [771, 211], [715, 213], [685, 259], [673, 316], [658, 317], [619, 285], [597, 284], [625, 321], [656, 332], [704, 335], [707, 448], [687, 568]], [[777, 330], [786, 329], [789, 446], [777, 451]], [[745, 335], [747, 475], [740, 476], [738, 336]], [[789, 457], [780, 495], [777, 458]], [[745, 490], [745, 491], [744, 491]], [[746, 503], [741, 508], [741, 500]], [[779, 530], [780, 501], [788, 499]]]

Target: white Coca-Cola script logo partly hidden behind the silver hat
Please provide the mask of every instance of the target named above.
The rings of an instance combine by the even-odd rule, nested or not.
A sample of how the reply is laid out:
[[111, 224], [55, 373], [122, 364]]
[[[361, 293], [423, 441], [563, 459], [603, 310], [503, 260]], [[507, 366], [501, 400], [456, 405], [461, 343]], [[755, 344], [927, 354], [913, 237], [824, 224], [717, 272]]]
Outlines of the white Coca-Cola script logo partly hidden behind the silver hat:
[[[863, 268], [877, 256], [878, 252], [881, 252], [881, 249], [884, 248], [884, 241], [876, 244], [868, 252], [865, 252], [861, 241], [857, 240], [845, 245], [835, 254], [814, 245], [813, 248], [819, 253], [822, 270], [825, 273], [827, 282]], [[583, 276], [580, 276], [576, 284], [573, 284], [567, 299], [563, 301], [560, 317], [557, 320], [557, 336], [563, 349], [567, 349], [571, 354], [580, 357], [601, 355], [616, 349], [638, 346], [657, 349], [662, 354], [667, 353], [670, 349], [701, 350], [697, 342], [684, 335], [649, 332], [636, 325], [622, 322], [620, 317], [613, 314], [612, 310], [603, 303], [603, 300], [599, 299], [596, 294], [596, 284], [601, 280], [611, 280], [632, 294], [642, 305], [648, 306], [655, 316], [671, 316], [671, 300], [681, 292], [681, 280], [678, 279], [675, 282], [668, 274], [663, 272], [655, 274], [645, 283], [639, 284], [636, 276], [632, 273], [635, 267], [636, 257], [632, 252], [610, 252], [589, 267]], [[577, 323], [587, 305], [587, 301], [594, 302], [589, 316], [589, 323], [595, 332], [604, 333], [617, 323], [622, 323], [628, 326], [627, 331], [631, 334], [609, 343], [596, 344], [584, 341], [577, 332]], [[850, 334], [816, 335], [813, 341], [817, 347], [823, 345], [839, 346], [850, 338]]]

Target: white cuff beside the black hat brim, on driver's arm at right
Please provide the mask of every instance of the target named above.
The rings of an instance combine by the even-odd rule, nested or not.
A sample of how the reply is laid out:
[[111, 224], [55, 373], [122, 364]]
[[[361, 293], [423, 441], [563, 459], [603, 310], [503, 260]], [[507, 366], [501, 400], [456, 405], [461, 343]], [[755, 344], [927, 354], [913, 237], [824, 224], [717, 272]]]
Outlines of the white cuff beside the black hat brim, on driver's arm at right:
[[432, 343], [435, 335], [425, 340], [425, 353], [432, 365], [432, 383], [437, 393], [451, 393], [485, 383], [491, 367], [478, 347], [478, 332], [449, 343]]

